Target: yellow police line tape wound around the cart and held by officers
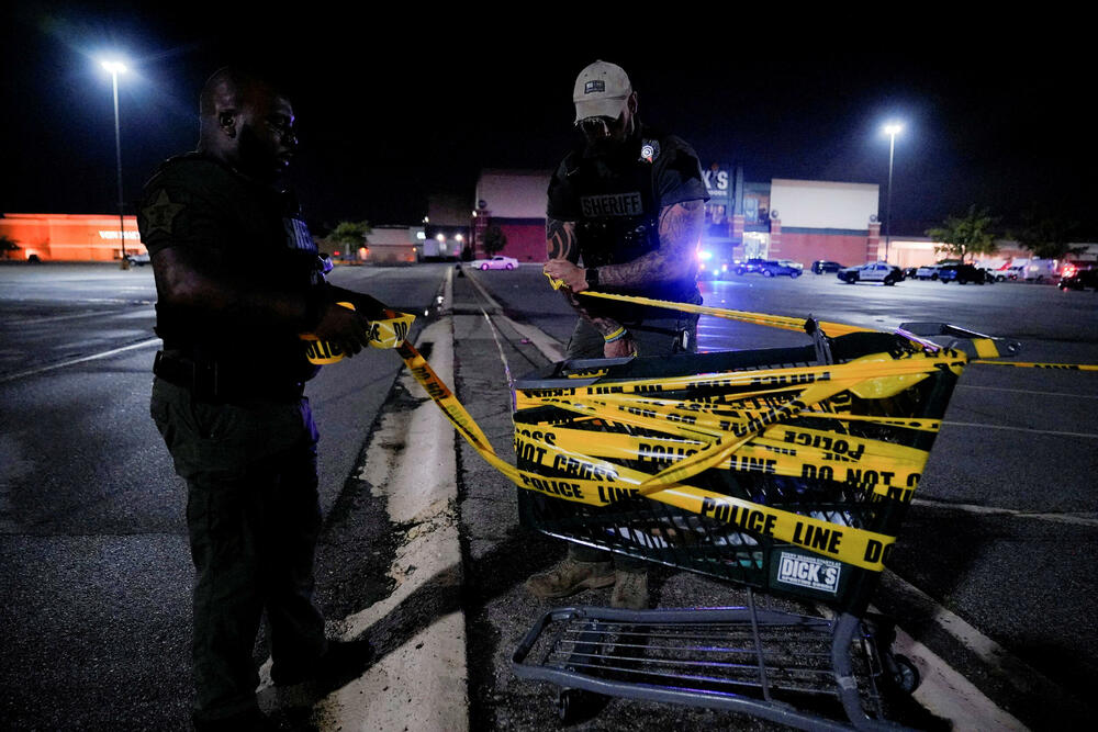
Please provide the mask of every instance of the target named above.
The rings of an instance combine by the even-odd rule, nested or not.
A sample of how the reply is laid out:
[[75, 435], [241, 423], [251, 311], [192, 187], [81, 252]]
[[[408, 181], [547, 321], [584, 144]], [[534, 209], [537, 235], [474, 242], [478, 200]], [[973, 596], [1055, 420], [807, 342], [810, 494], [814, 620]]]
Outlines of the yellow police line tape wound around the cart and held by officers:
[[[581, 294], [791, 330], [805, 328], [805, 320], [798, 318], [607, 293]], [[643, 495], [871, 571], [884, 568], [883, 559], [895, 537], [845, 526], [841, 513], [840, 522], [834, 522], [706, 491], [687, 482], [716, 468], [834, 481], [871, 492], [881, 499], [909, 502], [927, 462], [926, 450], [783, 423], [811, 417], [937, 432], [941, 428], [939, 419], [855, 414], [854, 398], [887, 398], [940, 369], [960, 375], [970, 362], [964, 353], [917, 340], [920, 346], [929, 344], [931, 348], [905, 354], [873, 354], [830, 365], [518, 390], [515, 408], [519, 413], [551, 406], [573, 415], [564, 423], [515, 424], [516, 457], [525, 464], [557, 475], [549, 477], [537, 470], [516, 468], [496, 454], [477, 421], [427, 360], [405, 340], [412, 319], [411, 315], [392, 313], [391, 318], [370, 322], [370, 345], [394, 348], [458, 432], [517, 486], [591, 506]], [[872, 331], [833, 323], [819, 326], [830, 336]], [[333, 363], [343, 358], [334, 352], [333, 345], [302, 337], [312, 338], [314, 363]], [[978, 347], [977, 353], [998, 354], [993, 340], [983, 340], [986, 342]], [[1053, 368], [1053, 364], [1033, 365]], [[704, 390], [705, 395], [688, 396], [691, 390]], [[687, 396], [682, 396], [684, 393]], [[625, 429], [597, 429], [608, 426]], [[660, 435], [652, 436], [653, 431]], [[651, 471], [628, 468], [618, 461], [650, 466]]]

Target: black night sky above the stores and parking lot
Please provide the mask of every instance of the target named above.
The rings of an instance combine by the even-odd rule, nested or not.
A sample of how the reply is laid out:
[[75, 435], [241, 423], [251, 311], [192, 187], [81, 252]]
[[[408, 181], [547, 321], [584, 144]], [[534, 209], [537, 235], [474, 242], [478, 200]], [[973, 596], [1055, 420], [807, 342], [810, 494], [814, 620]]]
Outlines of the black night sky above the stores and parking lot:
[[881, 126], [897, 119], [896, 235], [976, 204], [1004, 226], [1032, 210], [1098, 241], [1098, 64], [1079, 19], [360, 7], [7, 5], [0, 211], [116, 210], [111, 80], [97, 60], [112, 49], [132, 68], [120, 79], [127, 213], [160, 160], [193, 148], [205, 78], [244, 61], [290, 93], [293, 180], [320, 233], [343, 219], [417, 223], [433, 192], [472, 204], [482, 168], [551, 168], [573, 139], [575, 75], [604, 58], [629, 71], [641, 119], [686, 138], [704, 166], [740, 165], [748, 181], [878, 183], [884, 217]]

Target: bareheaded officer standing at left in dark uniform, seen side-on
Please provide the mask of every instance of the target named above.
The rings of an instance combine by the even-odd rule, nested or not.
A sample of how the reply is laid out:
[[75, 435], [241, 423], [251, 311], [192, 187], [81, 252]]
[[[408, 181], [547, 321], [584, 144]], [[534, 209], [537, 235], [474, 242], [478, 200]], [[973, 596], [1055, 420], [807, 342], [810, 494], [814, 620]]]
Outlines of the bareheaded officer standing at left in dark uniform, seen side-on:
[[225, 68], [199, 115], [198, 149], [160, 166], [138, 215], [164, 339], [150, 410], [188, 487], [194, 728], [276, 729], [255, 696], [265, 612], [276, 684], [345, 673], [369, 653], [327, 641], [313, 604], [317, 432], [303, 390], [317, 368], [298, 336], [354, 356], [382, 306], [325, 280], [281, 183], [298, 146], [285, 95]]

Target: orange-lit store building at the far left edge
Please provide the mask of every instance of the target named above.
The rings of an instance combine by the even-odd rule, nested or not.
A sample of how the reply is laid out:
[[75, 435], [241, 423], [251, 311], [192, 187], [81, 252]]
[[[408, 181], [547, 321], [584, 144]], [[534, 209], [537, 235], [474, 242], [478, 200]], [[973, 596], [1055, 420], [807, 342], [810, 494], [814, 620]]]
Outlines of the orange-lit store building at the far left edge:
[[146, 254], [137, 232], [137, 217], [98, 214], [3, 214], [0, 236], [18, 249], [5, 259], [41, 261], [112, 261]]

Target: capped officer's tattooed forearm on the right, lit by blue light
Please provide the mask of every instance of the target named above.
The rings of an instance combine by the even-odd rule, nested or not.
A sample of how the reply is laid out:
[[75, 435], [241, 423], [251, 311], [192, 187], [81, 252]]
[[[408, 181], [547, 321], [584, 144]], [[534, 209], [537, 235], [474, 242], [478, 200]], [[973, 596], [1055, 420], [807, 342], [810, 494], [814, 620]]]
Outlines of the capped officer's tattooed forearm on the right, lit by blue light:
[[705, 203], [683, 201], [660, 211], [660, 248], [620, 264], [598, 268], [598, 281], [613, 286], [643, 286], [679, 280], [696, 266], [694, 256], [705, 225]]

